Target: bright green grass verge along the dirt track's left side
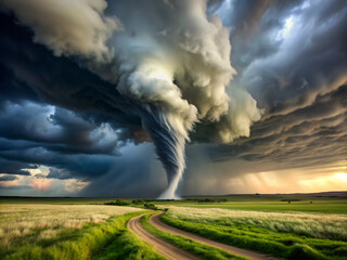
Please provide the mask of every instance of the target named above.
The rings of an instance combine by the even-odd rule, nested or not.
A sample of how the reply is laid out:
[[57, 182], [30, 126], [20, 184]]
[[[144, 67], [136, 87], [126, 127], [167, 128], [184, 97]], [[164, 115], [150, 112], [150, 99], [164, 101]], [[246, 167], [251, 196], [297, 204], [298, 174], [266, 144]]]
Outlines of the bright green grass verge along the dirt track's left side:
[[[129, 219], [145, 211], [126, 213], [112, 217], [106, 222], [99, 224], [85, 224], [83, 227], [66, 230], [61, 236], [53, 239], [41, 240], [35, 245], [24, 245], [10, 248], [1, 252], [1, 259], [13, 260], [41, 260], [41, 259], [76, 259], [85, 260], [100, 256], [101, 259], [107, 258], [108, 250], [103, 249], [113, 243], [113, 248], [124, 248], [127, 244], [127, 253], [130, 258], [119, 256], [112, 259], [163, 259], [153, 257], [155, 251], [146, 244], [137, 240], [129, 234], [126, 223]], [[131, 256], [143, 256], [143, 258]]]

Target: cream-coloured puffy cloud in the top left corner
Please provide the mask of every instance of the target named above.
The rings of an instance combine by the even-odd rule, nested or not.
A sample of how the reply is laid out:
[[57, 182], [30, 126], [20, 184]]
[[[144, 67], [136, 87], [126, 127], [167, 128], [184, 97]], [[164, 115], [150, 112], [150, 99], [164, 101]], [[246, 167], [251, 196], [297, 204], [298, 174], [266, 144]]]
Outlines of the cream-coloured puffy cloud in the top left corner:
[[34, 30], [34, 41], [57, 56], [77, 54], [98, 62], [112, 57], [106, 42], [120, 25], [103, 14], [104, 0], [3, 0], [0, 6], [13, 11]]

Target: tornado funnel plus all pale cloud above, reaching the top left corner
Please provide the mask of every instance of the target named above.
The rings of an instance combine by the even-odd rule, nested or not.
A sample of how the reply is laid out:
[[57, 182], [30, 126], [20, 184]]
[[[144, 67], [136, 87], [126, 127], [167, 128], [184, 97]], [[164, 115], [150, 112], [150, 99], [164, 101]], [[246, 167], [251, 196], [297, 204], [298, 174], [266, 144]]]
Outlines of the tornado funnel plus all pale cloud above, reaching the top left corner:
[[200, 131], [210, 141], [230, 143], [249, 136], [261, 116], [246, 88], [231, 83], [236, 72], [229, 29], [207, 12], [209, 2], [3, 0], [0, 10], [29, 27], [33, 41], [113, 86], [93, 91], [106, 93], [107, 107], [139, 116], [167, 174], [159, 198], [171, 199], [179, 198], [185, 144], [196, 123], [205, 123]]

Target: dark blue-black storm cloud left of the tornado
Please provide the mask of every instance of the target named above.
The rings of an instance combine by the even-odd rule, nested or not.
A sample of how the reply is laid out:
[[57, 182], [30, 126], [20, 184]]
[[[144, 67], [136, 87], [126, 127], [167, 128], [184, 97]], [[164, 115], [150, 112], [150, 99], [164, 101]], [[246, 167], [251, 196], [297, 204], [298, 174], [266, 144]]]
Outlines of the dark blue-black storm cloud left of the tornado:
[[132, 132], [145, 139], [139, 119], [115, 107], [125, 101], [114, 86], [33, 43], [13, 17], [0, 20], [1, 172], [29, 174], [22, 169], [37, 164], [53, 167], [50, 178], [94, 178]]

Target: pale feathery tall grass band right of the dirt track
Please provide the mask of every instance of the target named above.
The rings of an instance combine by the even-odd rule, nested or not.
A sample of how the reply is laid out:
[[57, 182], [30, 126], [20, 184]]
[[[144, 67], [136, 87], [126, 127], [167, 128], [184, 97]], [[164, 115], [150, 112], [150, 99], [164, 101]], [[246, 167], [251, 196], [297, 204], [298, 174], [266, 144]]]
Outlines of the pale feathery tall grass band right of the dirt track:
[[275, 232], [313, 238], [347, 240], [347, 216], [301, 212], [259, 212], [228, 209], [171, 207], [167, 217], [180, 220], [219, 223], [226, 226], [257, 225]]

